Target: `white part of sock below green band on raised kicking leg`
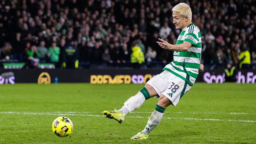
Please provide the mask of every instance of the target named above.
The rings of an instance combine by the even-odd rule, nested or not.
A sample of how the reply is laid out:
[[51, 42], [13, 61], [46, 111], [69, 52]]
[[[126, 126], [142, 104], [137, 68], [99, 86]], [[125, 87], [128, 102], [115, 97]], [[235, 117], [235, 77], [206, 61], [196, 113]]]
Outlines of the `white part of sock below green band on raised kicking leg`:
[[146, 100], [144, 95], [139, 91], [135, 96], [130, 97], [125, 103], [124, 106], [119, 110], [122, 114], [126, 115], [127, 113], [132, 112], [135, 109], [138, 109]]

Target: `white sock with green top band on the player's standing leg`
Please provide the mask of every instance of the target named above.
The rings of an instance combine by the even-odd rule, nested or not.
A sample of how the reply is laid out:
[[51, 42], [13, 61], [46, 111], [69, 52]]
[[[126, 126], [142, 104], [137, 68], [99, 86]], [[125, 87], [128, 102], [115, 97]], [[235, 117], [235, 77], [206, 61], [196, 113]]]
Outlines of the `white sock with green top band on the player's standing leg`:
[[[160, 109], [159, 109], [160, 108]], [[144, 128], [144, 130], [142, 130], [142, 132], [145, 135], [148, 135], [149, 132], [151, 132], [158, 124], [159, 122], [162, 120], [163, 115], [164, 115], [164, 108], [156, 105], [156, 109], [154, 110], [154, 112], [151, 114], [148, 123], [146, 125], [146, 127]]]

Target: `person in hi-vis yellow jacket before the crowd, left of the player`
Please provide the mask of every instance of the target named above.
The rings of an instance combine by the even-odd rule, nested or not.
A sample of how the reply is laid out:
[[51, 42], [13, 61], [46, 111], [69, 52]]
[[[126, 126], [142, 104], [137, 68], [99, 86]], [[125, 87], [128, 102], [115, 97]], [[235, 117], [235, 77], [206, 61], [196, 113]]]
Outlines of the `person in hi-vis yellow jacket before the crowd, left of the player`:
[[139, 46], [132, 48], [131, 63], [134, 68], [140, 68], [141, 64], [144, 63], [145, 57], [142, 49]]

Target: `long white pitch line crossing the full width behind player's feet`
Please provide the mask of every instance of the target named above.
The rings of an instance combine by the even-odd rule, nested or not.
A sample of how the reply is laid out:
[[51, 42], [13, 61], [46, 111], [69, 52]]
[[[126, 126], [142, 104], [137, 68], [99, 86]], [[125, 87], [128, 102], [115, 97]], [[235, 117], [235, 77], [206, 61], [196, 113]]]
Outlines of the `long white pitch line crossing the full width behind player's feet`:
[[[24, 114], [24, 115], [71, 115], [71, 116], [96, 116], [103, 117], [103, 115], [90, 115], [90, 114], [73, 114], [73, 113], [49, 113], [49, 112], [0, 112], [0, 114]], [[127, 116], [130, 118], [149, 118], [140, 116]], [[163, 119], [180, 119], [180, 120], [205, 120], [205, 121], [233, 121], [233, 122], [256, 122], [253, 120], [224, 120], [224, 119], [199, 119], [199, 118], [175, 118], [175, 117], [164, 117]]]

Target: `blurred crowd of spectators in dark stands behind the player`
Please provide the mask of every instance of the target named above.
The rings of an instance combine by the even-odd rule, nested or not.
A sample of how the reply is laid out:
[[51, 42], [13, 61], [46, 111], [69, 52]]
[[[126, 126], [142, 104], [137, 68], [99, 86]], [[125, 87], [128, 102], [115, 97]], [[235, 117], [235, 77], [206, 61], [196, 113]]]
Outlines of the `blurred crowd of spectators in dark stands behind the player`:
[[[172, 8], [179, 0], [1, 0], [0, 59], [24, 62], [166, 64], [180, 30]], [[186, 0], [202, 35], [204, 64], [256, 62], [255, 0]], [[133, 48], [141, 53], [134, 54]], [[132, 62], [132, 63], [134, 63]], [[248, 63], [248, 62], [247, 62]], [[249, 63], [249, 64], [250, 64]]]

